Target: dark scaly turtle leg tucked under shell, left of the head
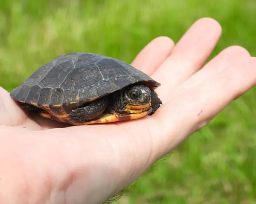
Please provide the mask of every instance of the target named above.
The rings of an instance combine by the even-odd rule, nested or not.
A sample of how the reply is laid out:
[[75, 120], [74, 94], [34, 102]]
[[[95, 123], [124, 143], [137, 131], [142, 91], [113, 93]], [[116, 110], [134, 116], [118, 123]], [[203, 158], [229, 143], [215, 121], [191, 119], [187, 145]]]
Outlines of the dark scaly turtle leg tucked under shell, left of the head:
[[107, 98], [103, 97], [96, 99], [83, 107], [72, 110], [67, 118], [67, 122], [73, 125], [79, 125], [97, 119], [102, 115], [107, 106]]

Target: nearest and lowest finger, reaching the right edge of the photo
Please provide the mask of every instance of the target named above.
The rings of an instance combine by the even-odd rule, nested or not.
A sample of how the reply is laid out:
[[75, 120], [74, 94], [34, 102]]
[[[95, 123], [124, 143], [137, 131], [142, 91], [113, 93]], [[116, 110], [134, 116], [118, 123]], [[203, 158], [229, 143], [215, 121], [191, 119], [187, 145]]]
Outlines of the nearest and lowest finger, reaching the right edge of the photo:
[[[155, 113], [158, 120], [154, 119], [161, 128], [151, 126], [155, 133], [152, 141], [156, 145], [154, 149], [163, 149], [157, 154], [160, 152], [164, 155], [171, 151], [188, 135], [205, 126], [234, 98], [244, 94], [255, 84], [256, 57], [250, 57], [243, 62], [230, 64], [214, 78], [164, 104]], [[153, 120], [153, 117], [148, 120]], [[163, 130], [167, 130], [166, 136], [159, 137]]]

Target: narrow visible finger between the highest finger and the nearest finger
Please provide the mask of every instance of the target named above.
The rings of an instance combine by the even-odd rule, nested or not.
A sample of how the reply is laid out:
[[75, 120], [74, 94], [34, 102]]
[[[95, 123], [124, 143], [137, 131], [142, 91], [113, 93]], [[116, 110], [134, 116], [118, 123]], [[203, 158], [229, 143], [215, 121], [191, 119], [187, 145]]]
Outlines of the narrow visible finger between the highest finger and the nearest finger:
[[230, 46], [221, 51], [216, 57], [210, 60], [203, 69], [199, 70], [189, 80], [186, 80], [176, 92], [186, 92], [191, 87], [214, 77], [222, 69], [234, 63], [241, 63], [244, 58], [249, 58], [250, 53], [241, 46]]

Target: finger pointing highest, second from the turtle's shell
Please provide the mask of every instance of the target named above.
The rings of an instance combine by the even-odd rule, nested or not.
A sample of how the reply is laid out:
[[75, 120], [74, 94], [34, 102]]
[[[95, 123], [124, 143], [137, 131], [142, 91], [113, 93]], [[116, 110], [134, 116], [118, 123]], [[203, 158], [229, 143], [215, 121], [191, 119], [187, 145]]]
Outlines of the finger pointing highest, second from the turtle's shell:
[[196, 21], [184, 34], [170, 55], [152, 77], [160, 82], [157, 92], [163, 96], [174, 86], [197, 72], [221, 36], [221, 26], [211, 18]]

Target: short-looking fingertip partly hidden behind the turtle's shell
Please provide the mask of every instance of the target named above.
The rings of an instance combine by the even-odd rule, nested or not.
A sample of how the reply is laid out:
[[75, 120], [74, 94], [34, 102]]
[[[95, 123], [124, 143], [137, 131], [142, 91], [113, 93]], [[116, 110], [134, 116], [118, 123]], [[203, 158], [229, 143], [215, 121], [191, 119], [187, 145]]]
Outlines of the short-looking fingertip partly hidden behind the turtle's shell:
[[169, 37], [157, 37], [142, 49], [132, 65], [151, 75], [171, 54], [173, 48], [174, 42]]

